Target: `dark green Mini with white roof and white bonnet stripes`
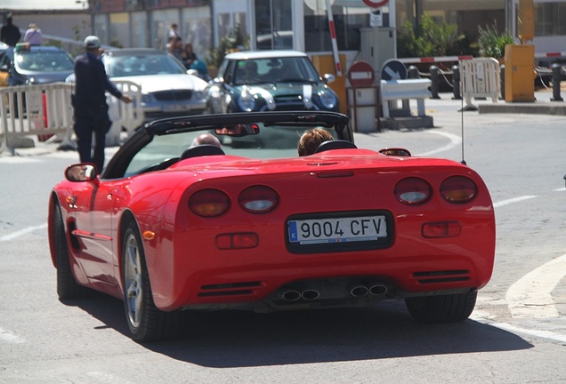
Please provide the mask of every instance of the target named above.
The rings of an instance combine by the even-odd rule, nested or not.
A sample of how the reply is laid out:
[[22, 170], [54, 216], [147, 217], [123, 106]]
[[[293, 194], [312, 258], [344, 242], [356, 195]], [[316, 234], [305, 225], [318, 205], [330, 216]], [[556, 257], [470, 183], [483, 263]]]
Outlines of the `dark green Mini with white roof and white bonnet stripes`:
[[296, 51], [235, 52], [224, 57], [208, 87], [209, 113], [339, 111], [333, 75], [319, 76], [309, 57]]

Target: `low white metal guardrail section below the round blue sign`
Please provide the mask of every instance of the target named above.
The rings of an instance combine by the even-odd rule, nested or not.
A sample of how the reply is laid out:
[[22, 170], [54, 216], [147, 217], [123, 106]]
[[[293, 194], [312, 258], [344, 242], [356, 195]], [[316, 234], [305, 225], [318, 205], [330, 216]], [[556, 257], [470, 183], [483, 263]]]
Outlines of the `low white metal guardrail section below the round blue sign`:
[[402, 100], [403, 109], [409, 111], [408, 100], [416, 100], [418, 116], [425, 116], [425, 99], [430, 99], [428, 88], [433, 82], [429, 79], [382, 80], [381, 100], [384, 108], [384, 117], [391, 117], [391, 109], [397, 109], [399, 100]]

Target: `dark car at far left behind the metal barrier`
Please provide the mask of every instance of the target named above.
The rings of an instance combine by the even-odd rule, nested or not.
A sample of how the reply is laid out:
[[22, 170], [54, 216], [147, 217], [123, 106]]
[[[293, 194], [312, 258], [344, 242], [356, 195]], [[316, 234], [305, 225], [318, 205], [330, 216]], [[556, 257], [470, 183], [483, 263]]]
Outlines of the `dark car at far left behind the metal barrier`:
[[8, 85], [64, 82], [73, 73], [73, 57], [55, 46], [19, 43], [0, 59], [0, 78]]

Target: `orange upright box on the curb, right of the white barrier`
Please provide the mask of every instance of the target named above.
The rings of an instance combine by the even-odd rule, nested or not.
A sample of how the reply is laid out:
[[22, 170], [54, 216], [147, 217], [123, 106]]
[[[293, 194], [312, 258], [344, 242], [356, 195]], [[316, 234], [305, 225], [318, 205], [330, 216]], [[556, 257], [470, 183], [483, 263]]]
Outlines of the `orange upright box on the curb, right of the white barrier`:
[[505, 45], [505, 101], [535, 100], [534, 66], [534, 45]]

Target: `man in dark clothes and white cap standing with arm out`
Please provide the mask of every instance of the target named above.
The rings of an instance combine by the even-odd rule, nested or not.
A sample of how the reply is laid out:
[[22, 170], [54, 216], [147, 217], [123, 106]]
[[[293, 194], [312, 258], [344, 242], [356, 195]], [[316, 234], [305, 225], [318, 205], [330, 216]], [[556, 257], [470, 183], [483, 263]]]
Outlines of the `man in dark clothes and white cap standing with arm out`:
[[106, 133], [112, 125], [105, 92], [110, 92], [125, 103], [132, 102], [132, 98], [110, 82], [104, 64], [99, 59], [102, 52], [100, 39], [97, 36], [86, 36], [85, 53], [75, 59], [75, 93], [72, 100], [78, 156], [81, 163], [96, 165], [98, 172], [104, 166]]

